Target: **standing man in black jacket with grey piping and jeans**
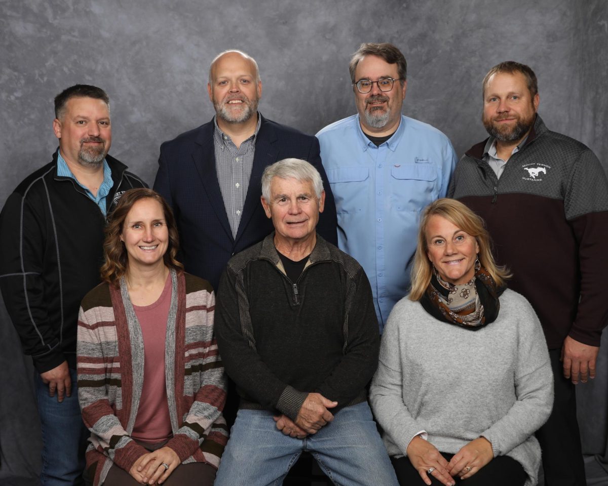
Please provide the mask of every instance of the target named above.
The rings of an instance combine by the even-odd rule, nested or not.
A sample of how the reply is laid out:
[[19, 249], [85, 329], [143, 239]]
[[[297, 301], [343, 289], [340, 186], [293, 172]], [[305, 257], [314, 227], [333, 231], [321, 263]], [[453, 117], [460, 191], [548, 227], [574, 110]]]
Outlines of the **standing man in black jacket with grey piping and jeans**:
[[126, 190], [146, 187], [108, 156], [102, 89], [76, 84], [58, 94], [53, 129], [52, 162], [26, 177], [0, 213], [0, 290], [36, 369], [44, 486], [82, 484], [89, 433], [78, 406], [78, 309], [100, 282], [107, 214]]

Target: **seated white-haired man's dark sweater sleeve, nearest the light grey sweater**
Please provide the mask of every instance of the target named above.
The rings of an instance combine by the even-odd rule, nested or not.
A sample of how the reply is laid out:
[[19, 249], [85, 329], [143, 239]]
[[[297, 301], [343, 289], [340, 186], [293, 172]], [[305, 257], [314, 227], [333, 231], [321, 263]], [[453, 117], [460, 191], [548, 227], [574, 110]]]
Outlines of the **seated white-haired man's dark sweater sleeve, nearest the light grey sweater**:
[[317, 390], [323, 397], [346, 405], [365, 388], [378, 366], [378, 318], [370, 283], [359, 267], [350, 281], [350, 308], [346, 310], [347, 335], [344, 357]]

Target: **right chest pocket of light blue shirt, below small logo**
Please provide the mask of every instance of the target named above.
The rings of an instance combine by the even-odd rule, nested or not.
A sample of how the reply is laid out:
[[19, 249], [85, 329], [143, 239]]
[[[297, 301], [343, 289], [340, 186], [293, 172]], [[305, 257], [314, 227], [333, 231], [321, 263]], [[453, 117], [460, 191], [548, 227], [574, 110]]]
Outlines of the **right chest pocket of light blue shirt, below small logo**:
[[437, 168], [429, 160], [390, 168], [391, 205], [397, 211], [420, 211], [437, 199]]

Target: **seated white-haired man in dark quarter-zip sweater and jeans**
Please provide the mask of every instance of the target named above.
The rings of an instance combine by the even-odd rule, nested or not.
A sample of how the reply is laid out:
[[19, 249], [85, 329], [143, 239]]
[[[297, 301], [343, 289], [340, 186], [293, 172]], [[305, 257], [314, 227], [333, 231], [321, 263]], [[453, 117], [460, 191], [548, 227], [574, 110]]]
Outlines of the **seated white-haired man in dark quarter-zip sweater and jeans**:
[[275, 484], [302, 451], [336, 484], [396, 485], [367, 404], [379, 352], [367, 276], [315, 231], [325, 192], [313, 165], [281, 160], [261, 182], [275, 231], [230, 259], [216, 302], [241, 404], [215, 485]]

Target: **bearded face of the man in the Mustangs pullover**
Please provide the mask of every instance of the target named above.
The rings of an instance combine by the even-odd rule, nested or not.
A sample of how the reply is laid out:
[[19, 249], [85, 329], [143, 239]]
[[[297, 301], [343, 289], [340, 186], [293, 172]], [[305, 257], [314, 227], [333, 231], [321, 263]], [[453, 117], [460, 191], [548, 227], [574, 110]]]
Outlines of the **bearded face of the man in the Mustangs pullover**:
[[499, 142], [517, 145], [532, 128], [538, 104], [522, 73], [498, 72], [485, 86], [483, 126]]

